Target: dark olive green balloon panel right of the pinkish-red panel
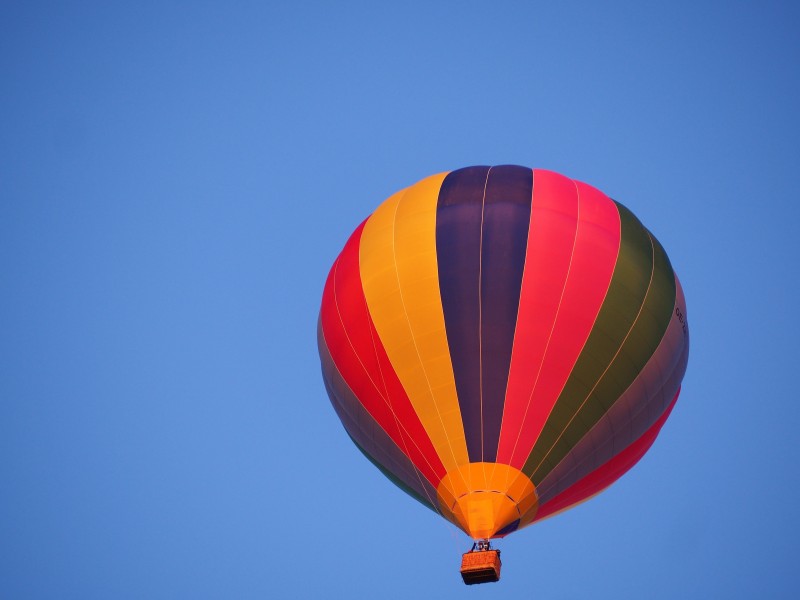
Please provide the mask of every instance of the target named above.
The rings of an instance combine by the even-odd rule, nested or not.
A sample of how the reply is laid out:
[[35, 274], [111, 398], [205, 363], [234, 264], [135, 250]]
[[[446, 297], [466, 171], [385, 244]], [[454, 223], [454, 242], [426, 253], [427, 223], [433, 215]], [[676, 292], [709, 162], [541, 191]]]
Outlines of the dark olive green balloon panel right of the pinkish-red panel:
[[621, 204], [617, 207], [622, 240], [608, 294], [522, 469], [535, 485], [630, 386], [672, 318], [676, 290], [669, 259], [639, 220]]

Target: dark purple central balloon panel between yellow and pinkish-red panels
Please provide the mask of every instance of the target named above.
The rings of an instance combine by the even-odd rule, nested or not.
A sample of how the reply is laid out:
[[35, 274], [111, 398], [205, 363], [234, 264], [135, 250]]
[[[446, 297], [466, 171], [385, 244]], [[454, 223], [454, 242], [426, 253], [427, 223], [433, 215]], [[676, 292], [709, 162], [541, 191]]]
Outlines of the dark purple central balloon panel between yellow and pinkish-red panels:
[[533, 172], [469, 167], [439, 192], [439, 286], [467, 450], [494, 461], [528, 243]]

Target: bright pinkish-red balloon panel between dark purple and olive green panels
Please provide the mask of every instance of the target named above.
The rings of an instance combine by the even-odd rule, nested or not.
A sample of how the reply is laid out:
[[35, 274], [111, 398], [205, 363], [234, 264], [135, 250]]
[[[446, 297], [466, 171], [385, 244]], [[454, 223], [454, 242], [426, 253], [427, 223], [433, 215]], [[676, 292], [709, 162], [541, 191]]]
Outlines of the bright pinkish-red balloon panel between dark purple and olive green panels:
[[521, 469], [594, 326], [619, 253], [616, 205], [534, 170], [519, 316], [497, 461]]

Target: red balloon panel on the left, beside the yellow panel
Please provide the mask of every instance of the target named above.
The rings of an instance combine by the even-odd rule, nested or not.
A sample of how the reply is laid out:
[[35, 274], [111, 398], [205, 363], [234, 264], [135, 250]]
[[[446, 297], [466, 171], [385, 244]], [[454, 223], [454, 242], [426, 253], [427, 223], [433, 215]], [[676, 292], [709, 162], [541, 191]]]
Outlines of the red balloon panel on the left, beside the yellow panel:
[[323, 335], [336, 368], [364, 408], [436, 487], [445, 469], [367, 309], [358, 263], [363, 228], [364, 223], [347, 241], [325, 283], [320, 311]]

